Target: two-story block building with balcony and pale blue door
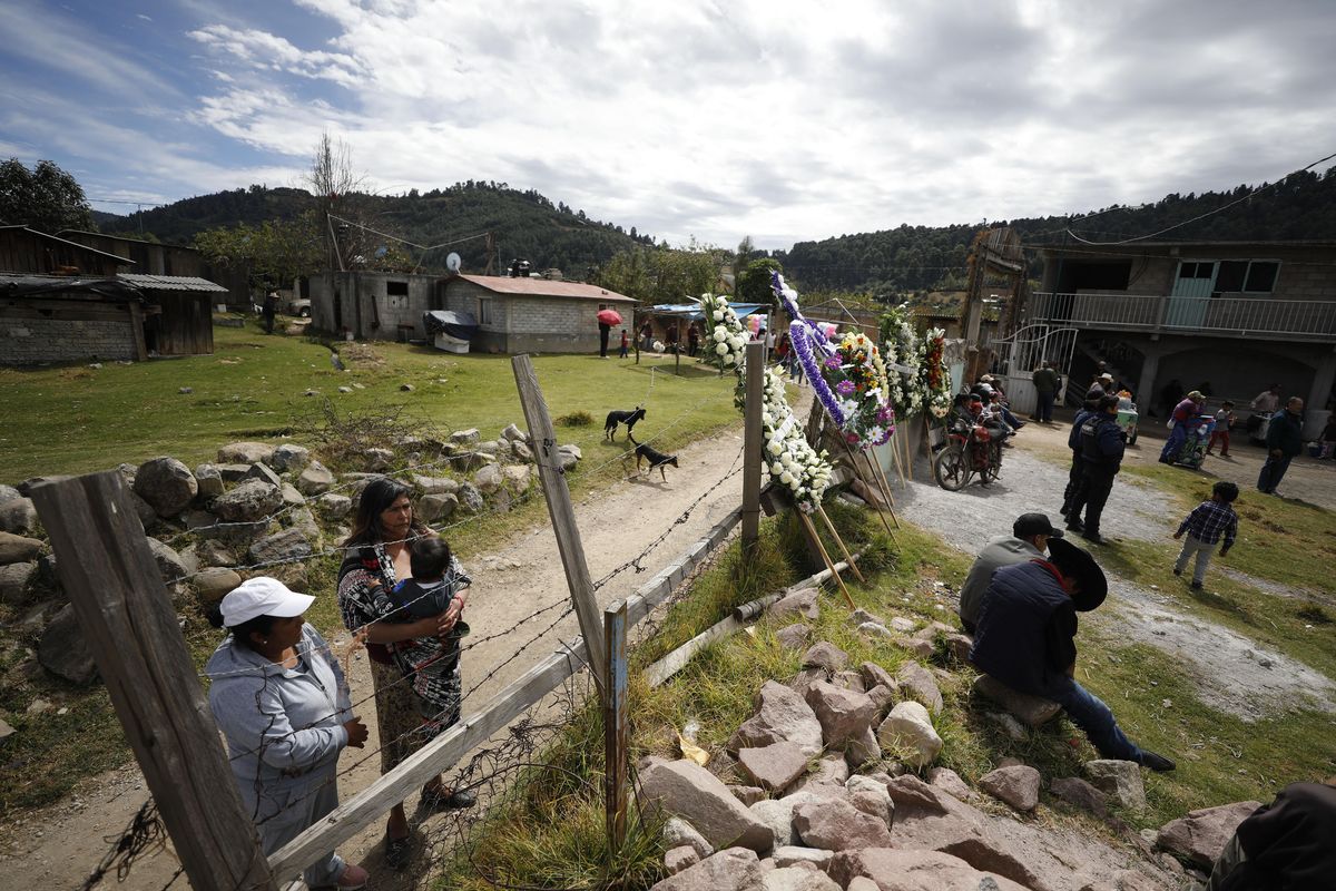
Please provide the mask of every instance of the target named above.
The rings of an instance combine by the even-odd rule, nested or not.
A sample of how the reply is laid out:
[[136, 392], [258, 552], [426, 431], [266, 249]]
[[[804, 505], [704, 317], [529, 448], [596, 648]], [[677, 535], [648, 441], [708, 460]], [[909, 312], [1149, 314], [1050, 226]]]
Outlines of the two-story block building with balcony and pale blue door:
[[[1142, 413], [1176, 383], [1246, 409], [1271, 383], [1303, 397], [1312, 434], [1336, 383], [1336, 242], [1132, 242], [1039, 248], [1030, 337], [1074, 342], [1083, 386], [1104, 361]], [[1043, 342], [1039, 339], [1038, 342]], [[1051, 350], [1050, 350], [1051, 351]], [[1061, 355], [1043, 355], [1062, 362]], [[1023, 374], [1029, 369], [1011, 369]]]

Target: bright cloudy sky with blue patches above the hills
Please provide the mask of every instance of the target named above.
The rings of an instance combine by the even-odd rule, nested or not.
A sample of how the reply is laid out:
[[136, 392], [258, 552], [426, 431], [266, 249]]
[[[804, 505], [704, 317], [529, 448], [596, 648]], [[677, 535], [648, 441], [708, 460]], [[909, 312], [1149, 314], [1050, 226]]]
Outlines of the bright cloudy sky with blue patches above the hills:
[[1336, 151], [1331, 0], [0, 0], [0, 156], [104, 200], [295, 186], [329, 131], [385, 192], [774, 248]]

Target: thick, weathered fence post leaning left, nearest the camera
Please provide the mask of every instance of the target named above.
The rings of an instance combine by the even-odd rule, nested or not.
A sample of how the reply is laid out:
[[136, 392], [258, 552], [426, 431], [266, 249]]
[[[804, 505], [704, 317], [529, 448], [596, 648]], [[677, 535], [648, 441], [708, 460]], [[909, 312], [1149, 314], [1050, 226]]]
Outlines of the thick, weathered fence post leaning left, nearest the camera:
[[115, 470], [32, 489], [60, 584], [195, 891], [273, 891], [176, 610]]

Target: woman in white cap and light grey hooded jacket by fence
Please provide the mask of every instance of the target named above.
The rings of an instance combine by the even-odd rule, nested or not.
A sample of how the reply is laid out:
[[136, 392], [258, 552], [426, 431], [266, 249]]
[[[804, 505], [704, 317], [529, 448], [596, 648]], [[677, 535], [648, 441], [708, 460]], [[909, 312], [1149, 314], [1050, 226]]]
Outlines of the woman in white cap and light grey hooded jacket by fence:
[[[347, 684], [329, 644], [305, 621], [315, 598], [277, 578], [250, 578], [210, 621], [227, 636], [208, 659], [208, 705], [227, 737], [242, 803], [273, 854], [338, 807], [338, 756], [362, 748]], [[311, 888], [366, 887], [366, 870], [330, 851], [305, 872]]]

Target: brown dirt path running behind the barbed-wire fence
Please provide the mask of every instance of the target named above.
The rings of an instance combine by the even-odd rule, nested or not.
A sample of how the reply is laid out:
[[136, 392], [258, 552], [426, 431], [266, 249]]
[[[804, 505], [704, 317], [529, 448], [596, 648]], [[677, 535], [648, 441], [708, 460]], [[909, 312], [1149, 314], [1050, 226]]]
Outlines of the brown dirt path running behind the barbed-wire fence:
[[[587, 461], [601, 464], [616, 453], [587, 454]], [[679, 453], [679, 468], [668, 468], [668, 480], [631, 478], [609, 490], [592, 496], [576, 505], [576, 517], [595, 580], [635, 557], [665, 530], [667, 537], [641, 562], [643, 570], [628, 570], [616, 576], [597, 594], [601, 604], [627, 597], [656, 572], [687, 550], [712, 525], [719, 522], [741, 498], [741, 427], [725, 430], [707, 442], [699, 442]], [[733, 457], [739, 456], [736, 464]], [[732, 465], [732, 470], [729, 466]], [[727, 478], [725, 478], [727, 477]], [[713, 488], [704, 500], [701, 496]], [[697, 500], [699, 504], [697, 504]], [[683, 518], [685, 512], [691, 512]], [[681, 518], [680, 522], [679, 518]], [[517, 533], [509, 541], [497, 542], [489, 553], [474, 557], [468, 565], [473, 574], [473, 597], [468, 618], [474, 639], [481, 639], [514, 625], [521, 617], [556, 600], [568, 598], [565, 574], [557, 553], [556, 538], [544, 524]], [[533, 640], [534, 635], [550, 625], [560, 608], [537, 620], [520, 625], [505, 637], [472, 649], [464, 661], [464, 688], [470, 689], [488, 673], [489, 667], [524, 652], [505, 668], [482, 683], [465, 704], [469, 713], [490, 695], [517, 677], [540, 659], [558, 648], [560, 641], [578, 633], [574, 616], [568, 616], [553, 631]], [[341, 643], [341, 641], [339, 641]], [[359, 655], [351, 665], [353, 700], [370, 693], [370, 672]], [[367, 712], [371, 739], [366, 752], [378, 745], [374, 709]], [[363, 757], [363, 753], [345, 755], [345, 764]], [[379, 775], [379, 757], [339, 780], [345, 800]], [[99, 859], [107, 852], [107, 839], [119, 836], [135, 812], [148, 797], [143, 776], [135, 765], [104, 773], [81, 783], [60, 803], [44, 811], [16, 820], [0, 835], [0, 870], [7, 876], [4, 886], [15, 888], [76, 888]], [[409, 800], [410, 819], [414, 799]], [[433, 818], [444, 820], [445, 818]], [[377, 822], [339, 852], [373, 870], [375, 887], [414, 888], [425, 875], [397, 875], [381, 863], [381, 832]], [[162, 888], [176, 870], [174, 855], [152, 855], [136, 862], [126, 884], [127, 888]], [[108, 878], [107, 887], [115, 884]], [[175, 888], [187, 887], [182, 876]]]

